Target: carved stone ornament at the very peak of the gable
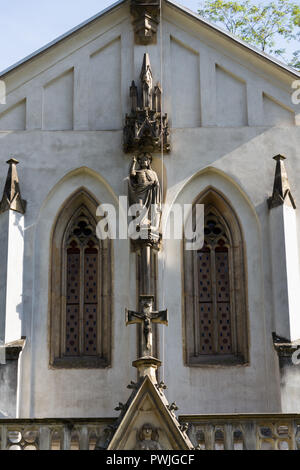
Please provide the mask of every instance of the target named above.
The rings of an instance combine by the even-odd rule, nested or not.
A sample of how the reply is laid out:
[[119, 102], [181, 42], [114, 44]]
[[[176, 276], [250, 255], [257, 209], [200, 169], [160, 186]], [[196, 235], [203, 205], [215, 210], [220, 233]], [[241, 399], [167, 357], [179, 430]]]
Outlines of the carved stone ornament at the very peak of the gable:
[[130, 13], [133, 17], [135, 43], [156, 44], [160, 0], [131, 0]]

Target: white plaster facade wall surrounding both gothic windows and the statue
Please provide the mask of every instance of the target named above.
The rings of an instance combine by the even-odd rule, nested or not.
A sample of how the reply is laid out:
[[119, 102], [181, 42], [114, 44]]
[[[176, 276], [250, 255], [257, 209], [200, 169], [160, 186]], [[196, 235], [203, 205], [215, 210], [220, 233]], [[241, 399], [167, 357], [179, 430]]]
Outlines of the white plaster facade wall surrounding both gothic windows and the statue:
[[[290, 104], [291, 79], [274, 69], [271, 74], [268, 67], [255, 62], [252, 56], [248, 60], [245, 53], [233, 51], [232, 46], [227, 47], [227, 43], [199, 29], [195, 22], [178, 16], [172, 9], [165, 10], [164, 14], [168, 21], [163, 23], [162, 73], [160, 35], [157, 46], [133, 47], [125, 6], [79, 32], [73, 40], [24, 65], [22, 73], [16, 71], [6, 80], [7, 105], [3, 105], [0, 112], [11, 108], [24, 96], [27, 99], [27, 130], [0, 132], [0, 181], [4, 184], [6, 177], [4, 162], [11, 154], [15, 155], [21, 162], [18, 172], [22, 196], [28, 201], [22, 325], [27, 342], [20, 370], [20, 417], [114, 416], [116, 404], [129, 396], [126, 385], [136, 377], [131, 366], [136, 358], [136, 331], [135, 327], [126, 328], [124, 320], [125, 307], [136, 307], [135, 256], [126, 241], [113, 243], [112, 367], [106, 370], [49, 369], [49, 243], [51, 227], [60, 207], [79, 187], [85, 186], [100, 202], [106, 203], [116, 204], [118, 196], [124, 194], [130, 155], [122, 152], [121, 129], [125, 113], [129, 112], [129, 86], [132, 79], [139, 79], [145, 51], [150, 54], [154, 81], [162, 82], [164, 107], [171, 124], [173, 116], [180, 116], [180, 113], [188, 116], [191, 111], [190, 115], [195, 116], [195, 110], [189, 110], [188, 104], [194, 106], [199, 86], [196, 105], [200, 103], [197, 116], [201, 116], [201, 127], [193, 127], [194, 123], [186, 127], [182, 120], [181, 128], [171, 129], [172, 152], [165, 155], [161, 163], [164, 171], [158, 171], [164, 174], [166, 201], [191, 202], [208, 184], [214, 185], [227, 196], [237, 212], [247, 250], [250, 365], [188, 368], [183, 363], [182, 346], [182, 252], [180, 243], [164, 245], [159, 255], [159, 304], [170, 312], [170, 326], [160, 327], [164, 361], [161, 375], [168, 384], [168, 396], [176, 400], [183, 414], [280, 411], [278, 364], [271, 337], [276, 286], [272, 285], [270, 275], [266, 199], [273, 187], [272, 157], [282, 153], [288, 158], [286, 166], [293, 195], [296, 201], [300, 200], [297, 184], [300, 134], [299, 128], [293, 125], [263, 126], [263, 93], [290, 106], [297, 114], [298, 108]], [[182, 70], [189, 70], [189, 64], [199, 60], [198, 85], [196, 66], [192, 67], [194, 75], [189, 77], [190, 82], [187, 81], [193, 85], [190, 87], [193, 99], [188, 96], [186, 109], [185, 103], [174, 100], [172, 95], [171, 37], [176, 42], [173, 57], [176, 59], [179, 48], [178, 66]], [[180, 47], [177, 48], [177, 44]], [[185, 55], [186, 48], [189, 50]], [[111, 54], [107, 53], [109, 50]], [[105, 64], [110, 66], [105, 68]], [[224, 127], [224, 123], [217, 126], [216, 64], [246, 84], [247, 121], [240, 124], [247, 122], [248, 126]], [[41, 131], [42, 89], [72, 68], [74, 131]], [[93, 90], [86, 86], [90, 80], [94, 80]], [[233, 111], [238, 102], [233, 100]], [[94, 109], [92, 113], [91, 109]], [[237, 111], [244, 113], [244, 110]], [[114, 130], [93, 130], [103, 129], [102, 125], [106, 126], [104, 129]], [[159, 158], [156, 159], [158, 168]]]

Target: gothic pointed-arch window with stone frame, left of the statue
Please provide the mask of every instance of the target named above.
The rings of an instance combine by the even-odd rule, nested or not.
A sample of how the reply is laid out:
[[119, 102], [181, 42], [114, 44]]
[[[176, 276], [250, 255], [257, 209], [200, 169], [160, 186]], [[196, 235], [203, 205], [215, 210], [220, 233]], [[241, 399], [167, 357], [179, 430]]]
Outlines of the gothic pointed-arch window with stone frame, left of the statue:
[[96, 236], [97, 203], [84, 190], [60, 212], [52, 237], [50, 363], [106, 367], [111, 344], [110, 241]]

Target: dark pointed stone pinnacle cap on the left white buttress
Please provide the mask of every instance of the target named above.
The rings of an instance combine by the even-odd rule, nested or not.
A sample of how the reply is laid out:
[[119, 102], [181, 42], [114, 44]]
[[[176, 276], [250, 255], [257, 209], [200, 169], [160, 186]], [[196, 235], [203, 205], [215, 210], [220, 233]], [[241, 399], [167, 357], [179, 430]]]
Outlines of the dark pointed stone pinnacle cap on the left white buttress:
[[11, 158], [6, 162], [9, 165], [4, 192], [0, 203], [0, 213], [13, 210], [25, 214], [26, 201], [21, 198], [19, 179], [17, 173], [18, 160]]

